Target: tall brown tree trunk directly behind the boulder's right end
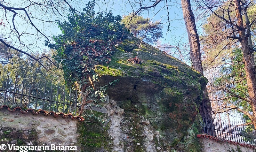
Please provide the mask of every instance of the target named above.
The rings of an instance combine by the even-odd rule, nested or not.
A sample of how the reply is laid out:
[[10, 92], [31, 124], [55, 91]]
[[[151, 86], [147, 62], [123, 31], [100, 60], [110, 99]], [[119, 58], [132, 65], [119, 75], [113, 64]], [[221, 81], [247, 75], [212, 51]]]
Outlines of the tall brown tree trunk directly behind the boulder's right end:
[[[195, 16], [191, 10], [190, 0], [181, 0], [181, 6], [183, 10], [185, 25], [188, 32], [188, 41], [190, 44], [191, 66], [195, 70], [199, 71], [201, 74], [204, 75], [202, 59], [201, 59], [199, 36], [197, 34]], [[200, 104], [199, 112], [201, 116], [205, 118], [205, 120], [210, 119], [210, 122], [213, 122], [211, 121], [213, 120], [212, 106], [211, 106], [211, 102], [210, 102], [206, 87], [204, 88], [203, 101]]]

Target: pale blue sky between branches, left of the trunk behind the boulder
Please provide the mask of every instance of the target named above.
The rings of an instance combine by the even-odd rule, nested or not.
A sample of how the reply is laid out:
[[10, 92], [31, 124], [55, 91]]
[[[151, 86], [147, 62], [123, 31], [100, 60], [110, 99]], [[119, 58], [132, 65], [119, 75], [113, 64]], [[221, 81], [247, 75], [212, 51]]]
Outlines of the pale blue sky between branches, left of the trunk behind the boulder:
[[[105, 2], [107, 3], [107, 5], [105, 5]], [[149, 3], [148, 1], [143, 1], [144, 3]], [[8, 3], [6, 3], [6, 5], [8, 5], [9, 7], [22, 7], [24, 5], [26, 5], [28, 3], [27, 0], [10, 0]], [[76, 0], [73, 1], [73, 3], [71, 3], [71, 5], [73, 7], [75, 7], [77, 10], [82, 11], [83, 6], [85, 6], [85, 4], [87, 4], [88, 1], [80, 1], [80, 0]], [[140, 13], [141, 16], [145, 17], [145, 18], [150, 18], [152, 19], [153, 17], [153, 21], [155, 20], [161, 20], [161, 23], [163, 23], [163, 39], [160, 39], [159, 41], [162, 44], [169, 44], [172, 46], [177, 46], [178, 44], [180, 45], [180, 48], [182, 50], [186, 50], [189, 51], [189, 45], [188, 45], [188, 36], [187, 36], [187, 31], [186, 31], [186, 27], [185, 27], [185, 23], [184, 23], [184, 19], [183, 19], [183, 13], [182, 13], [182, 9], [181, 9], [181, 5], [180, 5], [180, 1], [173, 1], [173, 2], [169, 2], [168, 1], [168, 11], [169, 11], [169, 19], [170, 19], [170, 25], [168, 23], [168, 16], [167, 16], [167, 7], [166, 7], [166, 1], [162, 1], [160, 2], [155, 8], [151, 8], [148, 11], [143, 11], [142, 13]], [[146, 4], [145, 6], [148, 6], [150, 4], [153, 3], [149, 3]], [[61, 9], [61, 5], [59, 5], [58, 7], [60, 7]], [[32, 8], [30, 8], [31, 10]], [[138, 7], [136, 8], [136, 6], [133, 7], [133, 10], [136, 11], [138, 9]], [[123, 16], [123, 15], [128, 15], [129, 13], [133, 12], [132, 7], [129, 3], [124, 3], [124, 1], [121, 0], [110, 0], [110, 1], [100, 1], [100, 0], [96, 0], [96, 6], [95, 6], [95, 11], [109, 11], [112, 10], [113, 15], [117, 16]], [[35, 9], [32, 10], [31, 13], [34, 15], [40, 15], [41, 13], [43, 13], [44, 10], [40, 10], [40, 9]], [[49, 11], [49, 10], [47, 10]], [[48, 12], [49, 13], [49, 12]], [[64, 13], [63, 11], [60, 10], [60, 13]], [[7, 18], [9, 21], [12, 19], [12, 13], [10, 13], [9, 18]], [[64, 13], [63, 16], [67, 17], [67, 11], [66, 14]], [[23, 16], [16, 16], [15, 22], [17, 24], [20, 24], [20, 26], [18, 26], [17, 28], [19, 28], [21, 31], [26, 31], [26, 32], [32, 32], [35, 33], [35, 28], [31, 27], [31, 26], [26, 26], [25, 21], [22, 19], [23, 17], [26, 17], [26, 15]], [[57, 16], [58, 17], [58, 16]], [[47, 20], [47, 18], [51, 18], [52, 21], [55, 21], [54, 16], [43, 16], [43, 18], [45, 18], [45, 20]], [[47, 23], [47, 22], [42, 22], [42, 21], [38, 21], [35, 20], [34, 24], [44, 30], [44, 33], [46, 35], [56, 35], [56, 34], [60, 34], [60, 30], [58, 28], [58, 25], [56, 23]], [[169, 28], [168, 28], [169, 25]], [[9, 25], [8, 25], [9, 26]], [[7, 26], [7, 27], [8, 27]], [[11, 25], [10, 25], [11, 26]], [[0, 30], [2, 31], [2, 33], [5, 33], [6, 36], [8, 37], [8, 29], [5, 27], [0, 27]], [[15, 34], [14, 34], [15, 36]], [[12, 41], [13, 44], [15, 45], [15, 41], [17, 42], [17, 39], [15, 39], [15, 37], [10, 37], [7, 40]], [[32, 42], [37, 42], [38, 46], [33, 46], [33, 48], [31, 49], [32, 51], [44, 51], [44, 49], [48, 49], [47, 47], [44, 46], [44, 40], [45, 38], [42, 38], [40, 40], [37, 40], [35, 36], [33, 35], [26, 35], [22, 38], [22, 40], [24, 41], [24, 43], [32, 43]], [[24, 48], [24, 47], [23, 47]], [[20, 47], [20, 49], [23, 49], [22, 47]], [[25, 48], [26, 49], [26, 48]], [[169, 53], [169, 52], [168, 52]], [[188, 52], [184, 52], [184, 55], [187, 54]], [[176, 56], [179, 57], [179, 54], [171, 54], [172, 56]], [[187, 64], [189, 62], [186, 62]]]

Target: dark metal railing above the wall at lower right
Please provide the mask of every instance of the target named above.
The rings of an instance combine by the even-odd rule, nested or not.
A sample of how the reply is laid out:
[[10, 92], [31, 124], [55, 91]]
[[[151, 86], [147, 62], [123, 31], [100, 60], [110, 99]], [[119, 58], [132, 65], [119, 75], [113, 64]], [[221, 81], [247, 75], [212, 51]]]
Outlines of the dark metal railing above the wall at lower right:
[[203, 117], [203, 131], [220, 139], [256, 146], [255, 130], [246, 129], [246, 126], [237, 119], [233, 122], [227, 122], [217, 118], [206, 119]]

